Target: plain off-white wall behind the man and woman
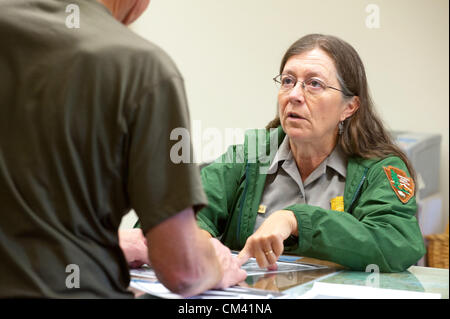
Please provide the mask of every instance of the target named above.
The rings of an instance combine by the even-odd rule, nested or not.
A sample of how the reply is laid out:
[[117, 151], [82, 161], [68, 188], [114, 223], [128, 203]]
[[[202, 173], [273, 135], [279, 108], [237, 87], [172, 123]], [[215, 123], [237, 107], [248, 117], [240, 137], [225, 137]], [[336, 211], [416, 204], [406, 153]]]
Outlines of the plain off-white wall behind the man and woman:
[[[366, 25], [369, 4], [380, 10], [379, 28]], [[225, 128], [263, 127], [274, 117], [272, 77], [292, 42], [308, 33], [346, 40], [366, 66], [388, 128], [442, 134], [443, 230], [449, 184], [448, 9], [448, 0], [152, 0], [131, 28], [178, 65], [203, 145], [211, 133], [206, 128], [224, 134]], [[227, 146], [219, 142], [204, 155], [200, 144], [194, 145], [197, 157], [219, 155]]]

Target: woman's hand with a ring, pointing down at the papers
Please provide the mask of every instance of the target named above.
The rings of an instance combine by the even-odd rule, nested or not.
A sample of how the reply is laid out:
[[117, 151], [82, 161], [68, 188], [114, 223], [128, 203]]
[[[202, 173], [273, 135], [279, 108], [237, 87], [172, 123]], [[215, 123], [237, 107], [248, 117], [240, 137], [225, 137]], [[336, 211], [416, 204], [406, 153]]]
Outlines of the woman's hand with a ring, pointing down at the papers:
[[250, 257], [255, 257], [259, 267], [277, 269], [276, 262], [284, 250], [283, 241], [290, 235], [298, 236], [294, 213], [290, 210], [276, 211], [247, 239], [238, 255], [240, 263], [243, 264]]

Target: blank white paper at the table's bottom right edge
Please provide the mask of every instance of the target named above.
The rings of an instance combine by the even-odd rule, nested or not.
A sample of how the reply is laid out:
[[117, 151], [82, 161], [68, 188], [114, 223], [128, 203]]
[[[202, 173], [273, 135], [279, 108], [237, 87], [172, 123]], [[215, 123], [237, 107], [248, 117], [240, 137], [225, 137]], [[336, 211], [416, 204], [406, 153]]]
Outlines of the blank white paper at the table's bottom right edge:
[[297, 299], [440, 299], [441, 294], [315, 282]]

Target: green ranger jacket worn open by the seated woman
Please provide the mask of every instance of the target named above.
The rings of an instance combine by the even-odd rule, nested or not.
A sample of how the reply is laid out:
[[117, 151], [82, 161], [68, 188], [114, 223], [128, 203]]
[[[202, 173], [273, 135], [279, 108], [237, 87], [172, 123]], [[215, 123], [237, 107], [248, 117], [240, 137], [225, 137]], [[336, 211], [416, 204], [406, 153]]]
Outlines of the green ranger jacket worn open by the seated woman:
[[[268, 168], [285, 133], [250, 130], [244, 145], [227, 152], [201, 171], [209, 205], [197, 214], [198, 225], [230, 249], [240, 250], [253, 234]], [[267, 150], [272, 151], [267, 154]], [[274, 147], [275, 146], [275, 147]], [[407, 172], [398, 157], [381, 160], [349, 158], [344, 211], [296, 204], [298, 237], [285, 240], [284, 253], [328, 260], [353, 270], [377, 265], [381, 272], [400, 272], [424, 254], [415, 218], [415, 197], [403, 203], [383, 167]]]

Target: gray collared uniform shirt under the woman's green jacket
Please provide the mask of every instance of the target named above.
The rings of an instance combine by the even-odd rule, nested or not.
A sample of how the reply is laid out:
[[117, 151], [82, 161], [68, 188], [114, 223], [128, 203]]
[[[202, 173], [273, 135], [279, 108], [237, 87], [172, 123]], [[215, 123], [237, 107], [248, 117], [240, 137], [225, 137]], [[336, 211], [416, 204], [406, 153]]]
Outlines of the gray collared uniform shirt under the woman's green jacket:
[[[300, 164], [301, 165], [301, 164]], [[269, 168], [256, 231], [268, 216], [293, 204], [330, 209], [330, 200], [344, 196], [347, 158], [337, 145], [333, 152], [303, 182], [286, 135]]]

